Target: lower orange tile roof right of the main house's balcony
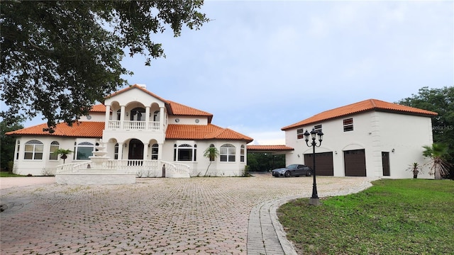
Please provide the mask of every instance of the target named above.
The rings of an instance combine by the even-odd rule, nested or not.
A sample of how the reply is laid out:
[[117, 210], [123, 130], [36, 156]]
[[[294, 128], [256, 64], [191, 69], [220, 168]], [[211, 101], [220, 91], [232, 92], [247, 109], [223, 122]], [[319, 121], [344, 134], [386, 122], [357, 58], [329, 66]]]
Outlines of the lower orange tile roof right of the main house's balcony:
[[228, 128], [220, 128], [216, 125], [175, 125], [167, 127], [166, 139], [182, 140], [242, 140], [252, 142], [253, 139], [235, 132]]

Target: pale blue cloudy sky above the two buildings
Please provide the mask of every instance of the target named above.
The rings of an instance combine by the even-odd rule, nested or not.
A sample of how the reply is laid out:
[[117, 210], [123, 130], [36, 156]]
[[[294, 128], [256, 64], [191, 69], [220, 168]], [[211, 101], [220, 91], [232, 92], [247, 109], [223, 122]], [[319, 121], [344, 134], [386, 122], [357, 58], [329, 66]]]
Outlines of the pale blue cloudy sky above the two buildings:
[[453, 1], [205, 1], [201, 11], [212, 21], [200, 30], [153, 36], [166, 58], [125, 58], [126, 79], [255, 145], [284, 145], [280, 128], [331, 108], [454, 86]]

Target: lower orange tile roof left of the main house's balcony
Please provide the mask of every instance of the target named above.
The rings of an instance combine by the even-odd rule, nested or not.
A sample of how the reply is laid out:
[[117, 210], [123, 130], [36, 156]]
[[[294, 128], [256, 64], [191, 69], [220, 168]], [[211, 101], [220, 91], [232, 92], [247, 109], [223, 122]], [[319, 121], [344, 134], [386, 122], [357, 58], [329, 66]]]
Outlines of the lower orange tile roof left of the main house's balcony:
[[59, 123], [55, 128], [55, 132], [50, 134], [43, 131], [43, 128], [48, 128], [47, 123], [35, 125], [21, 130], [6, 132], [6, 135], [51, 135], [60, 137], [96, 137], [101, 138], [104, 130], [104, 122], [85, 121], [74, 123], [72, 127], [66, 123]]

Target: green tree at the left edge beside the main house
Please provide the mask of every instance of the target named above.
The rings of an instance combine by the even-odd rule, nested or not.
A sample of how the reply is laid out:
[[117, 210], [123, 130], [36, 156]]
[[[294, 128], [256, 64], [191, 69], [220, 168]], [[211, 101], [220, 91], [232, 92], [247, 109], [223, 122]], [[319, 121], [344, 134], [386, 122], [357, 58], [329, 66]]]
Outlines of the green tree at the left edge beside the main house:
[[[14, 146], [16, 137], [11, 137], [10, 135], [6, 136], [5, 133], [21, 129], [23, 128], [23, 125], [21, 125], [19, 120], [13, 123], [7, 123], [5, 120], [3, 120], [0, 122], [0, 127], [0, 163], [2, 169], [8, 169], [8, 162], [13, 161], [14, 159]], [[8, 171], [13, 171], [13, 169], [8, 169]]]

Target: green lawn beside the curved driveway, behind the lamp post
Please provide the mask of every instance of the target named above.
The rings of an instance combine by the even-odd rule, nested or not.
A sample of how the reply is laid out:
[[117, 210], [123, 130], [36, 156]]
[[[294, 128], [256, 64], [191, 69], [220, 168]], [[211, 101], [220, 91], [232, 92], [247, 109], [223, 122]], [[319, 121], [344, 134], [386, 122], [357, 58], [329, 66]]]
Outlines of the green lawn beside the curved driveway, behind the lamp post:
[[454, 254], [454, 182], [379, 180], [360, 193], [277, 211], [298, 254]]

